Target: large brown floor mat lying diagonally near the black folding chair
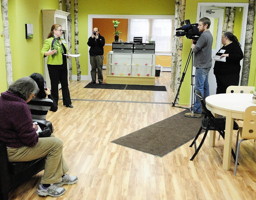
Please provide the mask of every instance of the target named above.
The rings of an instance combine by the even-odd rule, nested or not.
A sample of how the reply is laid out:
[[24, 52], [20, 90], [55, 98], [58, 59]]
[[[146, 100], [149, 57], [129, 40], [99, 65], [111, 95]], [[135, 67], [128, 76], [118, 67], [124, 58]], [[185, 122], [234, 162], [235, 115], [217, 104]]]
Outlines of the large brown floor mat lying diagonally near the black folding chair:
[[[202, 118], [188, 118], [182, 111], [111, 142], [163, 157], [196, 137]], [[194, 147], [193, 147], [194, 148]]]

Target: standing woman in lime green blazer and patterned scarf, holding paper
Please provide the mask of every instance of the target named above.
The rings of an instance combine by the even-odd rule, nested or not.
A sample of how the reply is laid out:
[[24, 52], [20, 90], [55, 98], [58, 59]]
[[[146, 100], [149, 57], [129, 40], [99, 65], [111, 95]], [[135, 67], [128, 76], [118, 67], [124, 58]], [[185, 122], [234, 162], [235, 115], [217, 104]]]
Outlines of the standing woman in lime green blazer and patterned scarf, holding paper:
[[[47, 68], [51, 80], [51, 94], [55, 102], [58, 104], [59, 100], [59, 82], [61, 84], [63, 105], [73, 108], [71, 103], [69, 89], [68, 89], [68, 59], [64, 54], [69, 54], [68, 46], [62, 36], [62, 27], [60, 24], [52, 25], [51, 32], [44, 40], [44, 46], [41, 50], [43, 57], [48, 56]], [[69, 56], [68, 56], [69, 57]]]

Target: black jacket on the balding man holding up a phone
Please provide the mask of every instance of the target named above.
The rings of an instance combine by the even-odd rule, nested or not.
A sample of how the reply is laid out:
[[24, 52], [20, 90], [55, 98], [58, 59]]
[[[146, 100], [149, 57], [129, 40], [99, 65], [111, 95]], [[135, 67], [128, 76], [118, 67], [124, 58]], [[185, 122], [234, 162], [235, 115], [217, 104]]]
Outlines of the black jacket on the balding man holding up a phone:
[[92, 36], [88, 39], [87, 45], [90, 46], [89, 54], [90, 55], [103, 55], [104, 49], [103, 46], [105, 45], [105, 39], [99, 33], [99, 38], [95, 39]]

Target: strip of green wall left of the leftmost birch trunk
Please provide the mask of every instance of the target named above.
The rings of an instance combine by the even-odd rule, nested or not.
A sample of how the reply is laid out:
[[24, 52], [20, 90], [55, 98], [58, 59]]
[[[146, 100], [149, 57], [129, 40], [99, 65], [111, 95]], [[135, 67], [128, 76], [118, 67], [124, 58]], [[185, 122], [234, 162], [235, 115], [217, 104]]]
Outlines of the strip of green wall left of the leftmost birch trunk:
[[[1, 2], [0, 2], [1, 5]], [[0, 19], [2, 19], [2, 12], [0, 12]], [[3, 23], [0, 20], [0, 32], [3, 31]], [[4, 36], [0, 36], [0, 93], [7, 88], [6, 68], [5, 68], [5, 54], [4, 54]]]

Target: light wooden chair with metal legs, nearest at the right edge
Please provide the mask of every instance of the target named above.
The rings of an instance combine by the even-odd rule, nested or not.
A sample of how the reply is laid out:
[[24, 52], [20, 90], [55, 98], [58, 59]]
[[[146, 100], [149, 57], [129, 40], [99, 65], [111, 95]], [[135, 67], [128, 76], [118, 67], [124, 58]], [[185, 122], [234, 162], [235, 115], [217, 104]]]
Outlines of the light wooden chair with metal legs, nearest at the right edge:
[[236, 176], [237, 170], [237, 163], [238, 163], [238, 156], [239, 156], [239, 149], [240, 144], [242, 141], [247, 139], [256, 139], [256, 106], [248, 107], [244, 112], [244, 127], [239, 127], [239, 132], [241, 135], [241, 140], [236, 140], [236, 164], [235, 164], [235, 171], [234, 175]]

